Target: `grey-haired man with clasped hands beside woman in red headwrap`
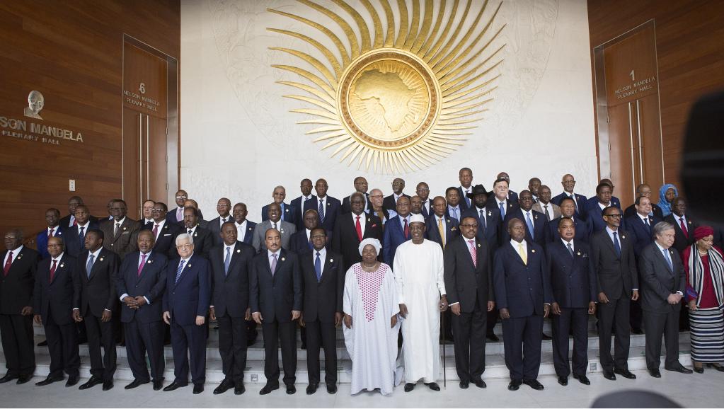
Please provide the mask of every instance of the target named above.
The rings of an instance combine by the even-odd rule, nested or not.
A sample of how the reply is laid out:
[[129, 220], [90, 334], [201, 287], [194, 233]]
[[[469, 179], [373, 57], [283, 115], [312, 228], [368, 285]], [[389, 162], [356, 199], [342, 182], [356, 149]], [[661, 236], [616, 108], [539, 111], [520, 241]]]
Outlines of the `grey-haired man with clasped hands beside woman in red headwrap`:
[[667, 371], [691, 374], [678, 360], [678, 320], [686, 273], [674, 244], [674, 225], [660, 222], [654, 225], [656, 241], [641, 252], [641, 308], [646, 327], [646, 366], [649, 374], [660, 378], [661, 337], [666, 342]]

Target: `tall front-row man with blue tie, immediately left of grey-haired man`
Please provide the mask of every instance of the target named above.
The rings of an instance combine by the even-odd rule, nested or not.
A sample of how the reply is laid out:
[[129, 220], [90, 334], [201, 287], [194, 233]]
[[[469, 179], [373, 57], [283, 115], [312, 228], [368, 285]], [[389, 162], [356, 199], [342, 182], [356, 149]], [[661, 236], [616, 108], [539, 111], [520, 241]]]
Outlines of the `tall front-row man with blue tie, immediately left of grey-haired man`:
[[[591, 256], [598, 278], [598, 339], [603, 376], [615, 381], [615, 374], [636, 379], [628, 371], [629, 310], [631, 300], [639, 299], [639, 273], [633, 240], [620, 228], [620, 208], [603, 211], [606, 227], [591, 237]], [[616, 326], [615, 358], [611, 357], [611, 332]]]

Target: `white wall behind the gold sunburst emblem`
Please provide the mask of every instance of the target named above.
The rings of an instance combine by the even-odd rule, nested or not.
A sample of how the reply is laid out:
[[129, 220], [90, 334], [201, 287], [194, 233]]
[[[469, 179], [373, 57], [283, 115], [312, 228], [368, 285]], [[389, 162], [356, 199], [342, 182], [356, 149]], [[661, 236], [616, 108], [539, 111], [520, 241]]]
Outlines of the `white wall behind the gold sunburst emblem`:
[[[296, 124], [307, 118], [289, 111], [303, 103], [282, 98], [290, 88], [275, 81], [298, 77], [270, 65], [301, 63], [267, 48], [308, 47], [266, 28], [311, 29], [266, 7], [318, 15], [293, 0], [181, 1], [182, 188], [208, 219], [215, 216], [216, 200], [227, 196], [247, 203], [254, 221], [275, 185], [287, 187], [290, 201], [303, 177], [326, 178], [329, 195], [340, 200], [353, 190], [357, 175], [367, 177], [370, 189], [390, 194], [393, 175], [329, 159], [330, 151], [304, 135], [311, 126]], [[431, 196], [444, 194], [445, 187], [459, 185], [458, 169], [468, 166], [473, 184], [488, 189], [495, 174], [505, 171], [513, 190], [526, 188], [535, 176], [555, 195], [562, 190], [561, 176], [571, 172], [576, 191], [592, 195], [597, 159], [586, 13], [582, 0], [504, 1], [494, 28], [507, 25], [497, 41], [507, 45], [491, 110], [458, 151], [434, 167], [403, 174], [406, 191], [413, 193], [424, 180]]]

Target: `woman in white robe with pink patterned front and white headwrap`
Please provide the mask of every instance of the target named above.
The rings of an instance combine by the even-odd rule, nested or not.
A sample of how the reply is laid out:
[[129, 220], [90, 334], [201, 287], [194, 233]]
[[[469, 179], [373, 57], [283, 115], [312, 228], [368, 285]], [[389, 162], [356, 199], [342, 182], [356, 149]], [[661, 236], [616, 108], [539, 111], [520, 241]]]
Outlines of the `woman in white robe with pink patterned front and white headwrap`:
[[[364, 250], [367, 247], [366, 250]], [[370, 253], [371, 248], [374, 251]], [[395, 276], [387, 264], [376, 271], [365, 271], [363, 263], [373, 265], [382, 249], [379, 240], [367, 238], [359, 245], [362, 262], [355, 263], [345, 277], [345, 345], [352, 360], [351, 392], [379, 389], [389, 395], [395, 387], [397, 360], [397, 322], [399, 303], [395, 300]]]

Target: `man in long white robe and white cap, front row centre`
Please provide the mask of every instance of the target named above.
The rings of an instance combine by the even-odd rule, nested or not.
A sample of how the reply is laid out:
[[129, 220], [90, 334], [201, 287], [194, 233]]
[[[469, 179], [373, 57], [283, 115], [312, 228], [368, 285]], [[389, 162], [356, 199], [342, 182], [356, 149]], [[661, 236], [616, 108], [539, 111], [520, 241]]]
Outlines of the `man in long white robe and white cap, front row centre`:
[[403, 316], [403, 362], [405, 392], [422, 379], [430, 389], [439, 391], [440, 311], [447, 309], [442, 248], [424, 239], [425, 219], [413, 214], [410, 219], [412, 240], [401, 244], [395, 253], [392, 270], [397, 282], [397, 302]]

